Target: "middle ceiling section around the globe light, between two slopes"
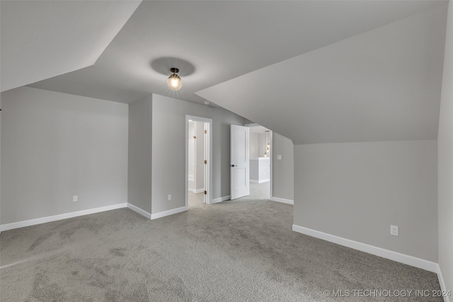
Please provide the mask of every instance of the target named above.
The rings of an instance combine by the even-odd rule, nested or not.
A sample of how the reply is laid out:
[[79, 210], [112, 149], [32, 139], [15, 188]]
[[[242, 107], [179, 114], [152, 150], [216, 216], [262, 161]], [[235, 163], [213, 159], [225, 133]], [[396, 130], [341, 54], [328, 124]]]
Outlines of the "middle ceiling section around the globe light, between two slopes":
[[[425, 11], [435, 1], [143, 1], [96, 64], [33, 87], [130, 103], [194, 92]], [[157, 62], [157, 64], [156, 64]], [[166, 87], [180, 69], [183, 88]]]

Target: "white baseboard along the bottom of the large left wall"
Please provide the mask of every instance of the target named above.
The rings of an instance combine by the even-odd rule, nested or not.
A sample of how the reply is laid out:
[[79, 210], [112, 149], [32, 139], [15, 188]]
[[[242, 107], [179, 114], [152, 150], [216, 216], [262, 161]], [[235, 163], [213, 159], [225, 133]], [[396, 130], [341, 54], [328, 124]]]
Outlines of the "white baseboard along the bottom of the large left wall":
[[35, 226], [35, 225], [41, 224], [41, 223], [47, 223], [47, 222], [52, 222], [52, 221], [57, 221], [57, 220], [62, 220], [62, 219], [69, 219], [69, 218], [73, 218], [73, 217], [77, 217], [77, 216], [95, 214], [95, 213], [99, 213], [101, 211], [110, 211], [110, 210], [121, 209], [121, 208], [125, 208], [125, 207], [127, 207], [127, 202], [122, 203], [122, 204], [113, 204], [111, 206], [94, 208], [94, 209], [87, 209], [87, 210], [74, 211], [74, 212], [65, 213], [65, 214], [47, 216], [47, 217], [42, 217], [42, 218], [37, 218], [37, 219], [30, 219], [30, 220], [18, 221], [18, 222], [13, 222], [13, 223], [6, 223], [6, 224], [2, 224], [0, 226], [0, 229], [1, 229], [1, 231], [8, 231], [8, 230], [12, 230], [14, 228], [23, 228], [25, 226]]

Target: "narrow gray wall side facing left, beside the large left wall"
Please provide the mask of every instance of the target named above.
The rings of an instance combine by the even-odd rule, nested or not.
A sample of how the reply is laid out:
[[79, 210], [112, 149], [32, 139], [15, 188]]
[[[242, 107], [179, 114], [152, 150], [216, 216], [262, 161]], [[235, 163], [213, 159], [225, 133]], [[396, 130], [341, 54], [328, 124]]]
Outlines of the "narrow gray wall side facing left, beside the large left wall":
[[152, 96], [129, 104], [127, 200], [151, 213]]

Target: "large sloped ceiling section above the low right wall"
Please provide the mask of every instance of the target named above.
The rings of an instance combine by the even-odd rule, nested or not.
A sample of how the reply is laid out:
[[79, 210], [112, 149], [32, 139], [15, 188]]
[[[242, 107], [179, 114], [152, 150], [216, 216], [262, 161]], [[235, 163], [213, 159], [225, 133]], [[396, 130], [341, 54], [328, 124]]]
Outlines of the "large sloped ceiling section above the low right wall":
[[197, 92], [294, 144], [437, 139], [441, 6]]

